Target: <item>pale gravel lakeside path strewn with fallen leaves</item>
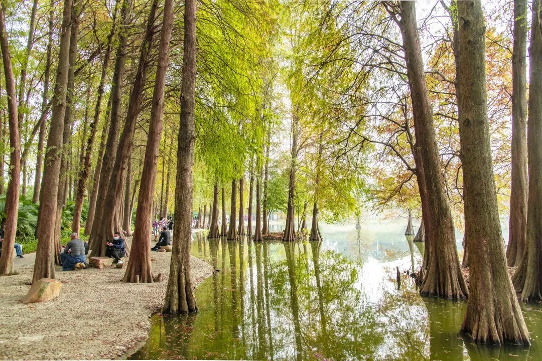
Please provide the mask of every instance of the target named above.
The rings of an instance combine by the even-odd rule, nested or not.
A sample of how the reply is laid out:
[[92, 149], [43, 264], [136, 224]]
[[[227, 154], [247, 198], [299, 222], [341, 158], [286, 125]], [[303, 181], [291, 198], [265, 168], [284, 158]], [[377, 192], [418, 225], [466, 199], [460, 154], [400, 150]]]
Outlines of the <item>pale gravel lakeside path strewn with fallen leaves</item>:
[[[153, 252], [152, 270], [164, 280], [154, 284], [120, 282], [126, 268], [62, 271], [62, 290], [54, 300], [22, 304], [33, 267], [16, 267], [18, 275], [0, 277], [0, 359], [112, 359], [143, 342], [150, 317], [164, 303], [171, 253]], [[212, 273], [192, 257], [192, 281], [199, 285]], [[17, 266], [17, 264], [15, 265]], [[126, 267], [126, 266], [125, 266]]]

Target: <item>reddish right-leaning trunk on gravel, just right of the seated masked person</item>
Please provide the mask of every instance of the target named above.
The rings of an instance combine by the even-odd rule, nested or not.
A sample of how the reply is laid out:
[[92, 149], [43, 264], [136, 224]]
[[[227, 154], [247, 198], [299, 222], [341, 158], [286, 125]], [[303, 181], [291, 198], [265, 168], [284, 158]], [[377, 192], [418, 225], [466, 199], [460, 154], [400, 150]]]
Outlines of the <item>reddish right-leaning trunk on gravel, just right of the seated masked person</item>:
[[[156, 69], [156, 78], [154, 80], [154, 91], [152, 95], [149, 133], [147, 136], [147, 146], [145, 148], [143, 171], [141, 172], [141, 185], [139, 187], [138, 207], [135, 213], [135, 229], [134, 237], [132, 238], [132, 254], [130, 256], [130, 262], [128, 262], [128, 267], [126, 268], [126, 273], [124, 274], [123, 280], [125, 282], [133, 283], [136, 281], [137, 278], [141, 281], [141, 283], [152, 283], [154, 281], [151, 266], [151, 229], [149, 227], [149, 224], [152, 217], [152, 198], [154, 194], [154, 186], [156, 185], [156, 169], [158, 166], [160, 139], [162, 137], [162, 130], [164, 128], [162, 123], [162, 117], [164, 115], [164, 91], [166, 83], [167, 65], [169, 64], [172, 28], [173, 0], [166, 0], [164, 4], [162, 34], [160, 35], [160, 49], [158, 51], [158, 65]], [[192, 205], [191, 200], [190, 205]], [[181, 209], [181, 207], [176, 207], [176, 209]], [[182, 227], [182, 221], [179, 221], [177, 225]], [[177, 230], [177, 228], [179, 227], [176, 226], [175, 229]], [[173, 239], [175, 240], [175, 238]], [[188, 239], [190, 240], [190, 237]]]

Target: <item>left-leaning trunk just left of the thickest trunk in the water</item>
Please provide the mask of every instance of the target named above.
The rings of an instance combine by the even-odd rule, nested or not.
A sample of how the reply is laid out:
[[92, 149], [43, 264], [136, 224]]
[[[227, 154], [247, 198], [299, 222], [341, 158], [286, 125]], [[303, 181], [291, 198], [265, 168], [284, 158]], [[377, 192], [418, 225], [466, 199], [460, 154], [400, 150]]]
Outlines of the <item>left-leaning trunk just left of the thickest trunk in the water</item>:
[[449, 202], [444, 191], [440, 156], [433, 127], [433, 108], [429, 101], [423, 60], [416, 24], [414, 2], [402, 1], [399, 28], [403, 37], [406, 72], [412, 100], [416, 143], [421, 149], [427, 200], [431, 209], [429, 266], [420, 293], [424, 296], [466, 298], [467, 284], [463, 279], [455, 246], [454, 226]]

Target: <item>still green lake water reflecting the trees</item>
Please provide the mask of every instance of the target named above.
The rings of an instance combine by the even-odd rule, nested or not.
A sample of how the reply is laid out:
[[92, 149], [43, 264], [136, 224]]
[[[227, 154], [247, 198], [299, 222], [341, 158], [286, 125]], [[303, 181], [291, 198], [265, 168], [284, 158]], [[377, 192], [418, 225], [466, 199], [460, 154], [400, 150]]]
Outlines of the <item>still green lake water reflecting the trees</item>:
[[199, 312], [153, 316], [130, 358], [542, 360], [541, 306], [523, 306], [530, 348], [473, 344], [459, 333], [466, 303], [418, 295], [408, 273], [423, 244], [404, 226], [362, 227], [323, 225], [324, 240], [285, 244], [196, 234], [192, 254], [220, 270], [196, 288]]

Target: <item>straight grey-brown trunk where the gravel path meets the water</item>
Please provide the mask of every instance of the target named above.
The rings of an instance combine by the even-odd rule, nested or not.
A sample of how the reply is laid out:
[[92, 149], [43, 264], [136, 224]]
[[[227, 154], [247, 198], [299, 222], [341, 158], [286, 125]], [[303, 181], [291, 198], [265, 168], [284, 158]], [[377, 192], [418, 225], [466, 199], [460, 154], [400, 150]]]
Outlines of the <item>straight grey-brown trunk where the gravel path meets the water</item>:
[[[167, 1], [171, 0], [166, 0]], [[184, 54], [180, 88], [180, 126], [175, 186], [175, 229], [170, 277], [164, 304], [165, 313], [198, 310], [190, 279], [190, 240], [192, 235], [192, 168], [194, 164], [194, 124], [196, 83], [196, 2], [184, 2]]]

